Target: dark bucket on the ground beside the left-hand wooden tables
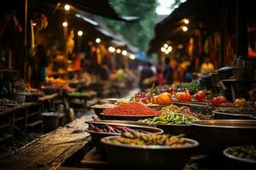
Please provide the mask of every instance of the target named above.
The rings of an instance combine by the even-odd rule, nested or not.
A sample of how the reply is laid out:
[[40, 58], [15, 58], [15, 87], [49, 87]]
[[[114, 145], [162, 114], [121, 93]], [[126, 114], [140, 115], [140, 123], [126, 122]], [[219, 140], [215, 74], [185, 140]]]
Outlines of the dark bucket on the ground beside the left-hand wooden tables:
[[43, 125], [44, 132], [50, 132], [59, 127], [59, 114], [55, 112], [44, 112], [43, 116]]

